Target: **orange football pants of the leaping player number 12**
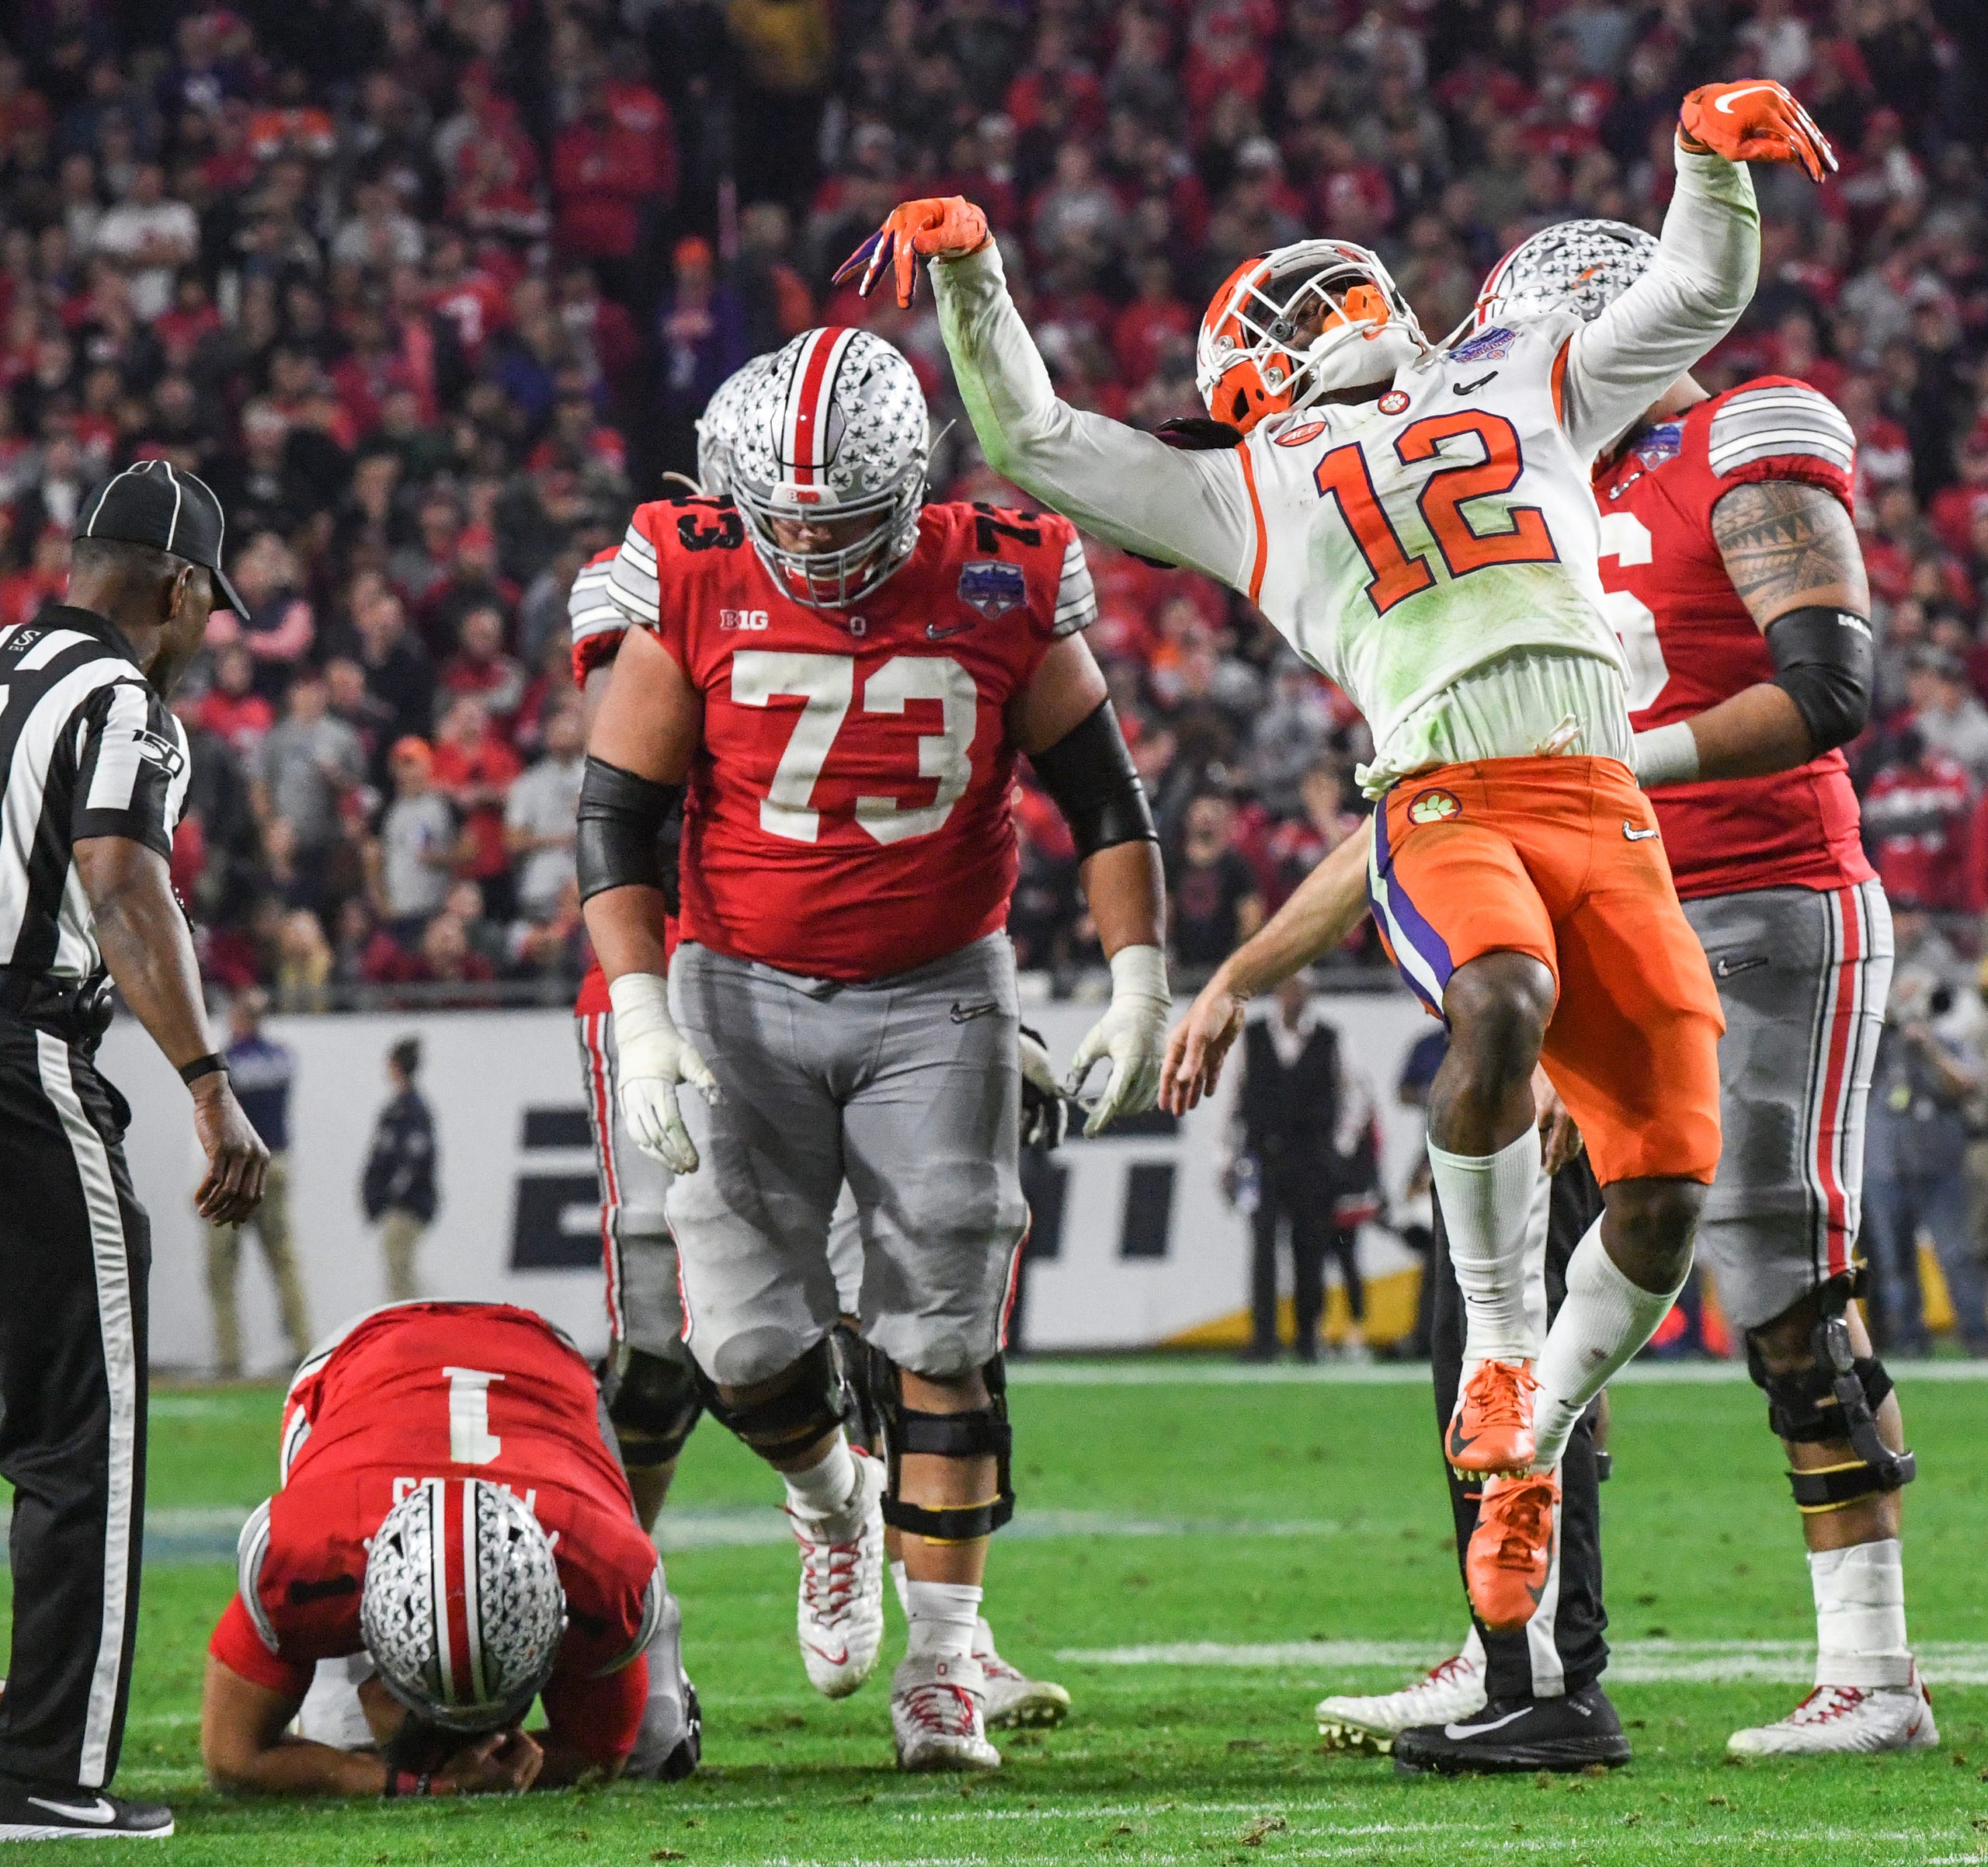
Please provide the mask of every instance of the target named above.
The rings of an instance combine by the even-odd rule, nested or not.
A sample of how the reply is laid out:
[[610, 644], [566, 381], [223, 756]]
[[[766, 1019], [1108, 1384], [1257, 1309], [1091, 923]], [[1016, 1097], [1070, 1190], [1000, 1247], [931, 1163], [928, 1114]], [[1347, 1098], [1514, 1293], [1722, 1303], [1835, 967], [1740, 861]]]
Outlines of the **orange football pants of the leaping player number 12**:
[[1602, 1185], [1720, 1163], [1726, 1018], [1628, 767], [1501, 758], [1402, 779], [1374, 811], [1388, 956], [1441, 1016], [1457, 966], [1529, 952], [1555, 984], [1541, 1062]]

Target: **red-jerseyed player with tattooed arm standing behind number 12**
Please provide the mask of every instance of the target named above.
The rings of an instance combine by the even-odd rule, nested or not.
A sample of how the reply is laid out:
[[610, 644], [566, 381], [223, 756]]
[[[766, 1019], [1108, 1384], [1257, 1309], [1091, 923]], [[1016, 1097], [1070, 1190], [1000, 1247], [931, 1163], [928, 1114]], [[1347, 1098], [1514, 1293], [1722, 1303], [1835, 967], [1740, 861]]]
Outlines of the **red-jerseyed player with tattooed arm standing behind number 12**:
[[1684, 378], [1594, 473], [1636, 775], [1726, 1010], [1726, 1155], [1700, 1251], [1787, 1445], [1815, 1593], [1815, 1690], [1734, 1732], [1740, 1756], [1938, 1742], [1905, 1630], [1914, 1461], [1851, 1300], [1893, 960], [1839, 750], [1873, 680], [1855, 445], [1803, 382], [1708, 396]]

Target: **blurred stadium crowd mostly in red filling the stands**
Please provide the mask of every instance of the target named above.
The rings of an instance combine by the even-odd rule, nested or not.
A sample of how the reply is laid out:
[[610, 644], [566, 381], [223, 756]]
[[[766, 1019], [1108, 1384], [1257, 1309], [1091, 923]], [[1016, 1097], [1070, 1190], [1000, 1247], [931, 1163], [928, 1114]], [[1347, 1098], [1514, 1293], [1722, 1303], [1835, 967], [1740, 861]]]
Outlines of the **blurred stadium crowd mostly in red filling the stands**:
[[[252, 608], [179, 700], [207, 976], [282, 1008], [475, 1002], [584, 960], [565, 598], [747, 356], [871, 322], [958, 414], [928, 302], [827, 286], [966, 193], [1062, 394], [1197, 410], [1235, 260], [1378, 247], [1431, 336], [1525, 233], [1654, 227], [1676, 99], [1801, 95], [1839, 181], [1757, 177], [1765, 260], [1700, 372], [1801, 376], [1861, 441], [1901, 907], [1988, 911], [1988, 20], [1972, 0], [24, 0], [0, 48], [0, 624], [60, 598], [113, 459], [205, 475]], [[948, 497], [1012, 499], [964, 424]], [[1219, 960], [1360, 821], [1364, 730], [1237, 598], [1091, 547], [1093, 644]], [[1089, 950], [1024, 785], [1024, 964]], [[1356, 942], [1346, 964], [1376, 958]], [[507, 984], [513, 982], [513, 984]]]

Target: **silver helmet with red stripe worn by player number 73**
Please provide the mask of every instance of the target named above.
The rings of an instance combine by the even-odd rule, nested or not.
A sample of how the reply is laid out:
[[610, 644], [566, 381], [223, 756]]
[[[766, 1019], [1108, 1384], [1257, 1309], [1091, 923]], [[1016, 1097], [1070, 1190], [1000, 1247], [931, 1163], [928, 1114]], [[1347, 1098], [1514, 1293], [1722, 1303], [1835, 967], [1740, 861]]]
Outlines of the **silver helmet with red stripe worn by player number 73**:
[[869, 330], [803, 330], [746, 392], [732, 499], [761, 563], [809, 608], [847, 608], [918, 543], [930, 425], [903, 354]]

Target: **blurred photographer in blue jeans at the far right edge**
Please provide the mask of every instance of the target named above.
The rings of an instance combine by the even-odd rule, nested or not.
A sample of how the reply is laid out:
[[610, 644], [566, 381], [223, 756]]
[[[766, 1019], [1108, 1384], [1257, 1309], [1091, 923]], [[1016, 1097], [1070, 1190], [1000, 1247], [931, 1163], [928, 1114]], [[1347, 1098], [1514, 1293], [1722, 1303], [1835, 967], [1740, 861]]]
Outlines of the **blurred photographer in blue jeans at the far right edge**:
[[1968, 1231], [1968, 1103], [1980, 1066], [1944, 1034], [1954, 992], [1930, 974], [1899, 972], [1879, 1036], [1865, 1149], [1865, 1237], [1875, 1290], [1871, 1326], [1883, 1350], [1928, 1352], [1918, 1286], [1918, 1231], [1954, 1302], [1954, 1330], [1988, 1356], [1988, 1278]]

